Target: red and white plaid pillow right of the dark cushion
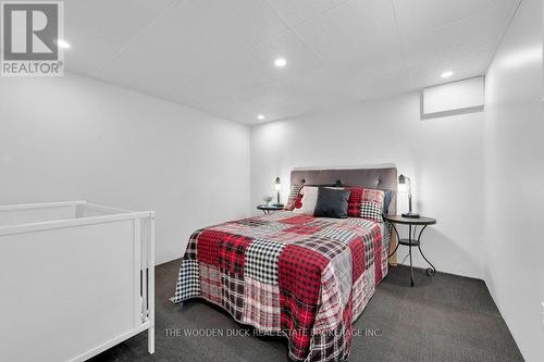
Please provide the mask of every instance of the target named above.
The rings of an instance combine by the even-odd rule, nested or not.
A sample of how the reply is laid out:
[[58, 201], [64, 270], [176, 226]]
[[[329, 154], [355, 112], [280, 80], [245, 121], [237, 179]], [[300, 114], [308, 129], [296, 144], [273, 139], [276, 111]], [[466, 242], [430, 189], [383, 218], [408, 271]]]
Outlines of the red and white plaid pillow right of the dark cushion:
[[346, 189], [351, 191], [347, 200], [348, 216], [383, 221], [384, 191], [362, 187], [346, 187]]

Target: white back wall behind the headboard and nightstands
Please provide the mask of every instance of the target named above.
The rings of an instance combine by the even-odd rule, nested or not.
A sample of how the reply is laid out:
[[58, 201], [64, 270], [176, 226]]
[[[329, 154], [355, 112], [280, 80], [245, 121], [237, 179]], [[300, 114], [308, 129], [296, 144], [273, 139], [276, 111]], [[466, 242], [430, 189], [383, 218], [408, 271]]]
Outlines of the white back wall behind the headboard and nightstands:
[[[395, 163], [412, 178], [417, 211], [438, 221], [425, 230], [423, 251], [440, 271], [481, 278], [482, 129], [483, 113], [421, 121], [419, 92], [259, 125], [251, 128], [251, 202], [273, 195], [275, 176], [286, 196], [297, 166]], [[399, 195], [399, 212], [406, 199]]]

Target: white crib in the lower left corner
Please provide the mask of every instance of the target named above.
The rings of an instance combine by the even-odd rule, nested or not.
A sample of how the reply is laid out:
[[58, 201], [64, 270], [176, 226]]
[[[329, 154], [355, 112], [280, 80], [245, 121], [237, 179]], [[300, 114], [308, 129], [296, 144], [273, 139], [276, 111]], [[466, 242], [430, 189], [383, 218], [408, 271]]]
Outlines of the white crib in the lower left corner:
[[154, 213], [85, 201], [0, 207], [0, 361], [85, 361], [148, 329]]

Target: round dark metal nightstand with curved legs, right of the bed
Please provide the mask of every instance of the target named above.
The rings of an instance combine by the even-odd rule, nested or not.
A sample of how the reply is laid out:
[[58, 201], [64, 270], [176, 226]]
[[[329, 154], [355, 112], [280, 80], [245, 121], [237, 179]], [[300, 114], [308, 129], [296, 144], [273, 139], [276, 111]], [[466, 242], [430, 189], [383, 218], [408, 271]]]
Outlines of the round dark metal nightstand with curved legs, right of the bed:
[[[400, 215], [384, 215], [383, 220], [391, 223], [393, 225], [393, 229], [395, 230], [395, 234], [397, 235], [397, 246], [395, 247], [395, 250], [390, 254], [393, 255], [399, 245], [404, 245], [408, 247], [408, 252], [410, 255], [410, 282], [411, 286], [413, 287], [413, 266], [412, 266], [412, 259], [411, 259], [411, 248], [417, 247], [419, 249], [419, 252], [421, 257], [431, 265], [431, 267], [426, 269], [426, 275], [433, 276], [436, 273], [436, 269], [434, 265], [426, 259], [426, 257], [423, 254], [423, 251], [421, 251], [421, 234], [423, 234], [423, 230], [429, 226], [429, 225], [434, 225], [436, 224], [436, 220], [432, 217], [404, 217]], [[398, 230], [396, 225], [408, 225], [408, 238], [403, 239], [398, 235]], [[423, 226], [423, 228], [419, 232], [418, 238], [415, 238], [415, 235], [412, 235], [412, 229], [416, 230], [417, 226]]]

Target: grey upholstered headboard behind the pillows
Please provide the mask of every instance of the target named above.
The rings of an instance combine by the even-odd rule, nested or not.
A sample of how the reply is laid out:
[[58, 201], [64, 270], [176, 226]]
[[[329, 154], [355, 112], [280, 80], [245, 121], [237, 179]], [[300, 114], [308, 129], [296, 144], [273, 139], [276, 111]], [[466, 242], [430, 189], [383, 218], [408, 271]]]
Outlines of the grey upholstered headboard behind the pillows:
[[390, 214], [397, 211], [397, 168], [384, 166], [375, 168], [344, 168], [344, 170], [304, 170], [290, 172], [290, 184], [334, 185], [341, 182], [345, 186], [361, 186], [380, 190], [395, 191], [390, 204]]

